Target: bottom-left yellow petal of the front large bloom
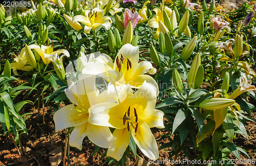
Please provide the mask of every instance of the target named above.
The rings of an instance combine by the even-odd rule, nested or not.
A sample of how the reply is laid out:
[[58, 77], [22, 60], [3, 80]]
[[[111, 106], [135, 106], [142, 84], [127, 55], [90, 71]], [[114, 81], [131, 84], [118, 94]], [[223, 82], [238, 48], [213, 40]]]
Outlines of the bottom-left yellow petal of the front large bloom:
[[119, 161], [122, 158], [123, 153], [125, 152], [126, 148], [129, 145], [130, 131], [128, 131], [127, 128], [116, 129], [113, 132], [113, 136], [115, 138], [106, 155], [113, 157], [114, 159]]

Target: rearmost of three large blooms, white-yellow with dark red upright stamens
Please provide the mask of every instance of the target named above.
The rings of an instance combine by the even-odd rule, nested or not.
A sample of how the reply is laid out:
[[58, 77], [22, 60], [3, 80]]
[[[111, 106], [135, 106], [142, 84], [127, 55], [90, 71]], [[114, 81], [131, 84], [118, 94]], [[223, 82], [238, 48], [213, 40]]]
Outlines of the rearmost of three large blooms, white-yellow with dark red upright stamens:
[[139, 88], [144, 81], [155, 87], [159, 93], [156, 81], [145, 73], [155, 74], [156, 68], [148, 61], [139, 62], [139, 47], [125, 44], [118, 52], [115, 62], [105, 54], [101, 54], [95, 61], [83, 68], [83, 74], [93, 74], [103, 77], [115, 86], [129, 84], [132, 88]]

